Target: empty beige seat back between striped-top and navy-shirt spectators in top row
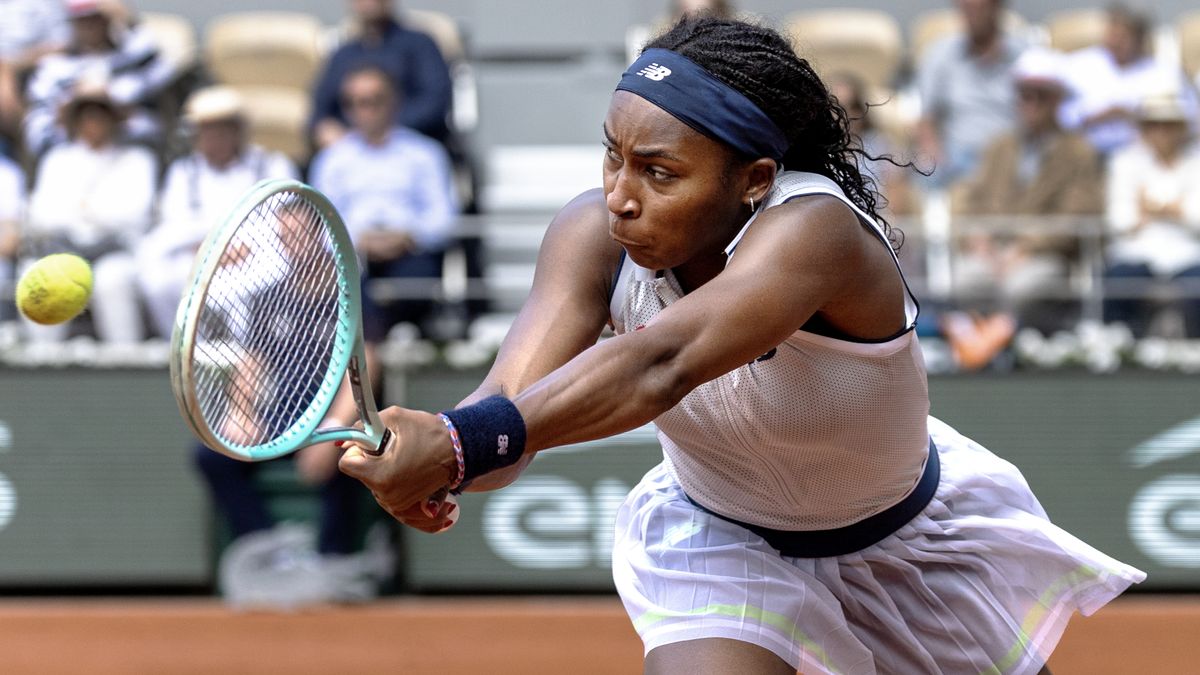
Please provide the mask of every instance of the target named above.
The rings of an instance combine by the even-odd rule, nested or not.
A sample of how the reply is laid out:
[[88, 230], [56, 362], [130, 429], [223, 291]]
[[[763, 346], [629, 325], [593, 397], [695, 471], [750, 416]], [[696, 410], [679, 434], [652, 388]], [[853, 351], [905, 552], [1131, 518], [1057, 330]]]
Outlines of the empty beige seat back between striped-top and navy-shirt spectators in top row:
[[205, 30], [212, 77], [230, 85], [307, 89], [324, 58], [320, 22], [301, 12], [232, 12]]

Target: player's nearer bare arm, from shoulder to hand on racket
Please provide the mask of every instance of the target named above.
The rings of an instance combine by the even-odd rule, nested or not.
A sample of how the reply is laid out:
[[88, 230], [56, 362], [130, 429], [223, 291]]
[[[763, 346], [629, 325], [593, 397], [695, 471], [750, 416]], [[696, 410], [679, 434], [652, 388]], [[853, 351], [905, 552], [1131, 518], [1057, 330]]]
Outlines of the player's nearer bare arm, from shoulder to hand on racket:
[[[833, 198], [812, 197], [776, 207], [760, 217], [724, 273], [672, 304], [644, 329], [586, 348], [528, 387], [518, 380], [521, 388], [515, 395], [503, 389], [505, 380], [500, 380], [500, 390], [508, 396], [487, 399], [498, 407], [479, 411], [480, 404], [470, 408], [480, 413], [476, 422], [484, 435], [492, 432], [486, 428], [500, 417], [518, 414], [523, 450], [533, 454], [628, 431], [654, 419], [700, 383], [778, 346], [817, 311], [846, 317], [846, 322], [834, 323], [851, 334], [884, 338], [904, 323], [898, 301], [902, 288], [883, 285], [895, 288], [896, 297], [876, 306], [863, 301], [872, 293], [878, 295], [876, 270], [898, 280], [894, 265], [888, 269], [878, 264], [881, 258], [872, 257], [878, 255], [888, 256], [874, 234]], [[881, 306], [895, 307], [899, 313], [886, 316], [878, 311]], [[547, 309], [566, 310], [553, 304]], [[514, 338], [518, 335], [521, 327], [514, 331]], [[526, 353], [512, 340], [509, 346]], [[559, 352], [558, 358], [566, 353]], [[509, 356], [505, 363], [524, 362]], [[503, 372], [503, 364], [500, 368]], [[517, 372], [536, 369], [520, 368]], [[402, 408], [389, 408], [382, 418], [401, 438], [397, 452], [368, 458], [350, 450], [342, 468], [367, 483], [385, 508], [407, 508], [455, 479], [455, 452], [440, 419]], [[490, 438], [491, 453], [504, 455], [508, 435], [492, 432]], [[511, 464], [511, 455], [509, 459]], [[480, 466], [476, 474], [486, 476]]]

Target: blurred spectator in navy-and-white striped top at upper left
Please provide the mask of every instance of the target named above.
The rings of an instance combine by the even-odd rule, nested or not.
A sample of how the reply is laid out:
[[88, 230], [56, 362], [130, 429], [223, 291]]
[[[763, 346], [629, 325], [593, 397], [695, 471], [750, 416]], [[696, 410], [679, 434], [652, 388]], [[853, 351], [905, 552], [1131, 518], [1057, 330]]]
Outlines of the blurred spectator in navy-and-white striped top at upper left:
[[25, 89], [25, 150], [40, 156], [64, 142], [66, 130], [55, 117], [59, 107], [77, 83], [101, 78], [108, 82], [108, 95], [128, 110], [125, 135], [142, 143], [157, 142], [161, 125], [150, 107], [175, 73], [160, 58], [154, 36], [130, 26], [116, 0], [67, 0], [66, 7], [71, 41], [64, 52], [38, 62]]

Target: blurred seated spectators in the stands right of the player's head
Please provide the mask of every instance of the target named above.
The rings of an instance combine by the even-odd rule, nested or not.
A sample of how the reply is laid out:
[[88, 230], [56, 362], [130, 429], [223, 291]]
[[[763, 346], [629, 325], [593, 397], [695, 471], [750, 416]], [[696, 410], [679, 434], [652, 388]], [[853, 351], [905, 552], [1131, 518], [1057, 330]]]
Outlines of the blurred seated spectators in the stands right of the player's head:
[[[677, 4], [692, 5], [738, 13]], [[952, 0], [907, 40], [877, 10], [780, 23], [846, 110], [883, 215], [912, 235], [919, 330], [949, 368], [1010, 364], [1022, 330], [1200, 339], [1200, 12], [1115, 2], [1034, 23], [1004, 0]]]

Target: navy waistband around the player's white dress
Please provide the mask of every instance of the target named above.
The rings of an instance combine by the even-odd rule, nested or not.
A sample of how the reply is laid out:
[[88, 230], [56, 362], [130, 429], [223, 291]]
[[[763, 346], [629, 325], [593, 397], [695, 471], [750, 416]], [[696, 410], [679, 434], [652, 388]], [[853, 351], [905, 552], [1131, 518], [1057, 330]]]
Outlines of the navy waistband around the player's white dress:
[[925, 461], [925, 470], [920, 474], [920, 480], [907, 497], [875, 515], [864, 518], [853, 525], [836, 527], [834, 530], [772, 530], [749, 522], [742, 522], [732, 518], [726, 518], [703, 504], [696, 502], [688, 495], [688, 501], [704, 513], [727, 520], [734, 525], [740, 525], [746, 530], [758, 534], [768, 544], [785, 557], [832, 557], [860, 551], [875, 545], [917, 516], [937, 491], [941, 480], [941, 464], [937, 459], [937, 448], [934, 441], [929, 441], [929, 459]]

